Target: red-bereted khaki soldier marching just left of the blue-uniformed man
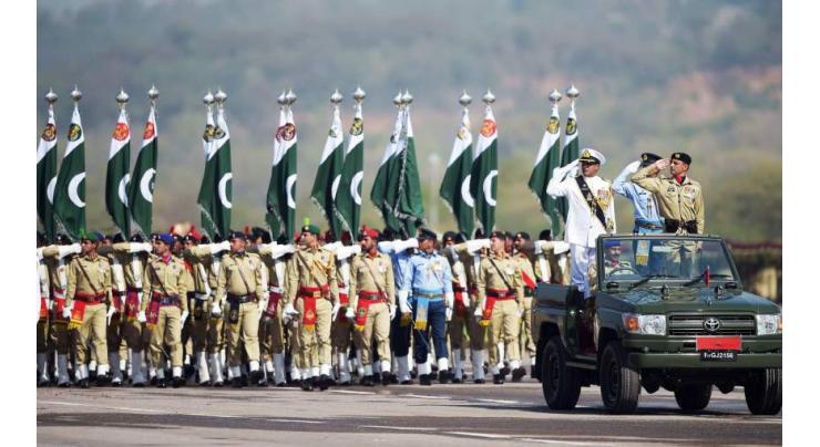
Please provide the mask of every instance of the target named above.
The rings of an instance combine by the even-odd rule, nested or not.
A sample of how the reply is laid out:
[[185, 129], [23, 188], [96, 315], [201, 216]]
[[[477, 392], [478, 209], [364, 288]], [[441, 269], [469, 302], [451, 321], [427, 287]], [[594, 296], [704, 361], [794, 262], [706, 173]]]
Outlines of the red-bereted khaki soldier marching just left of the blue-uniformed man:
[[396, 292], [393, 269], [390, 257], [380, 253], [376, 248], [379, 232], [361, 227], [359, 247], [361, 253], [353, 257], [350, 263], [350, 305], [356, 309], [353, 321], [356, 347], [365, 365], [361, 384], [373, 386], [373, 367], [371, 365], [372, 342], [379, 354], [382, 385], [390, 383], [390, 321], [396, 314]]

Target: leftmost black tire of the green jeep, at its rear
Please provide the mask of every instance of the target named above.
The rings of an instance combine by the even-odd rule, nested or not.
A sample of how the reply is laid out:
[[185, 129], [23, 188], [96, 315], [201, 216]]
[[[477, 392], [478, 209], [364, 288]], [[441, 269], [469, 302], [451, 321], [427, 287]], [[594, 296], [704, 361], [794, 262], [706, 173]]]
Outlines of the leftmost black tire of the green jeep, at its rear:
[[581, 396], [578, 373], [566, 366], [566, 350], [554, 335], [544, 346], [541, 361], [541, 389], [550, 409], [573, 409]]

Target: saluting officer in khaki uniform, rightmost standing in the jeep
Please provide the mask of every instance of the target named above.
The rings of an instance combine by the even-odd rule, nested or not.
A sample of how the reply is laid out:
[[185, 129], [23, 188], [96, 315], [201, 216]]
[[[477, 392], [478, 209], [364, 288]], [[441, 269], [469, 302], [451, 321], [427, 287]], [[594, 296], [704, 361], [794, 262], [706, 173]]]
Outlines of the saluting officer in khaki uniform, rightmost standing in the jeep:
[[[700, 184], [688, 176], [690, 164], [688, 154], [676, 152], [672, 160], [659, 159], [632, 176], [632, 181], [657, 197], [666, 232], [704, 232], [704, 191]], [[672, 176], [654, 176], [667, 167]]]

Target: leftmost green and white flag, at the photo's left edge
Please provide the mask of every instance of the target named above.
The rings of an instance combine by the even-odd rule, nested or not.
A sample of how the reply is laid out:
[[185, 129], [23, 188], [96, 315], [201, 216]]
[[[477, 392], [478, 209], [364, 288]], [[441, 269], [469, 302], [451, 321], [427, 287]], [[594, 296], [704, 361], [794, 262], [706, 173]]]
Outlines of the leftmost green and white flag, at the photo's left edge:
[[37, 146], [37, 215], [49, 240], [54, 240], [54, 187], [57, 186], [57, 125], [49, 104], [49, 121]]

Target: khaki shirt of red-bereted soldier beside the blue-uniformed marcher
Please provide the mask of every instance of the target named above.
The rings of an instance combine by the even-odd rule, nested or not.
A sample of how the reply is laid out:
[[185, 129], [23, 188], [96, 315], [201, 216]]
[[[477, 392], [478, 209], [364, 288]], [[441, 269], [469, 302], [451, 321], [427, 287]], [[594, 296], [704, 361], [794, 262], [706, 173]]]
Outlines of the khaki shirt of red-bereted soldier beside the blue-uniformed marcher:
[[362, 290], [385, 293], [388, 305], [396, 304], [393, 266], [385, 253], [355, 256], [350, 262], [350, 308], [356, 309]]

